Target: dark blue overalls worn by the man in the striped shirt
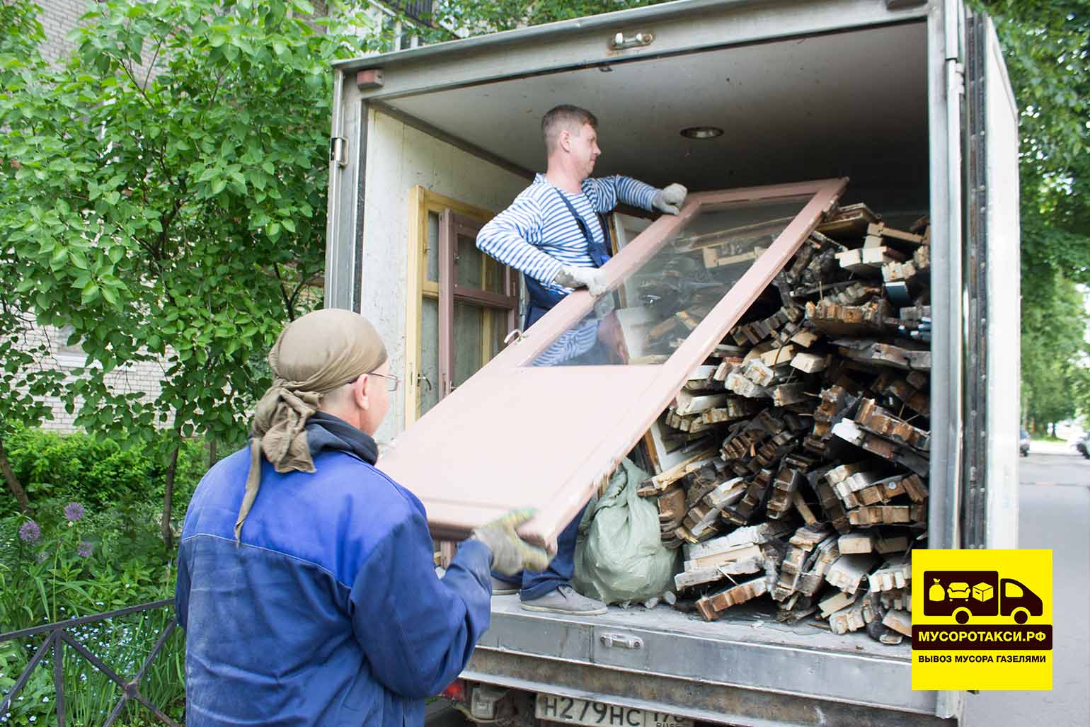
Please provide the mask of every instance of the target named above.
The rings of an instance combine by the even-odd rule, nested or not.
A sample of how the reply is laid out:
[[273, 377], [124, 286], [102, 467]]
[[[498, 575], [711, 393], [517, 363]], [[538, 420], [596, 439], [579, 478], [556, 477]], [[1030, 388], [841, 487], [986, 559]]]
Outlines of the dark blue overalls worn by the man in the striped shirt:
[[[604, 242], [608, 242], [609, 232], [608, 228], [602, 223], [602, 219], [598, 219], [598, 225], [602, 227], [602, 239], [604, 242], [596, 242], [594, 235], [591, 234], [590, 228], [583, 218], [579, 216], [576, 208], [568, 202], [568, 198], [557, 190], [557, 194], [560, 199], [568, 207], [571, 216], [576, 218], [576, 225], [579, 226], [579, 231], [583, 233], [583, 239], [586, 240], [586, 252], [590, 254], [591, 259], [594, 262], [594, 267], [602, 267], [609, 259], [608, 249]], [[526, 292], [530, 296], [530, 304], [526, 307], [526, 315], [524, 318], [523, 329], [530, 328], [533, 324], [537, 323], [542, 316], [553, 310], [557, 303], [564, 300], [564, 295], [560, 293], [554, 293], [548, 290], [542, 283], [537, 282], [530, 276], [523, 275], [523, 279], [526, 282]], [[595, 347], [597, 348], [597, 347]], [[588, 353], [580, 356], [589, 356], [598, 353], [595, 349], [592, 349]], [[579, 362], [577, 360], [576, 362]], [[585, 361], [580, 363], [597, 363], [595, 361]], [[585, 510], [585, 508], [583, 508]], [[568, 526], [556, 538], [556, 557], [549, 562], [548, 568], [541, 572], [524, 570], [520, 575], [502, 575], [493, 571], [495, 575], [500, 581], [505, 581], [511, 584], [521, 583], [520, 597], [522, 601], [534, 601], [540, 598], [545, 594], [555, 591], [560, 585], [566, 585], [571, 582], [571, 575], [576, 571], [576, 536], [579, 533], [579, 521], [583, 518], [583, 510], [579, 511]]]

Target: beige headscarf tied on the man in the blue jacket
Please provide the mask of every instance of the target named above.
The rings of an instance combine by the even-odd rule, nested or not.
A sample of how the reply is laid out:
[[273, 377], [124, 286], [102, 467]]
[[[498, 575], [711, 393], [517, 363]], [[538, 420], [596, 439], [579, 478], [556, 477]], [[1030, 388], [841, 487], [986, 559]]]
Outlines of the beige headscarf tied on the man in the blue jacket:
[[290, 323], [269, 351], [272, 386], [257, 402], [250, 429], [250, 476], [234, 540], [257, 497], [262, 455], [277, 472], [314, 472], [306, 443], [306, 420], [322, 397], [386, 362], [386, 347], [374, 326], [351, 311], [326, 308]]

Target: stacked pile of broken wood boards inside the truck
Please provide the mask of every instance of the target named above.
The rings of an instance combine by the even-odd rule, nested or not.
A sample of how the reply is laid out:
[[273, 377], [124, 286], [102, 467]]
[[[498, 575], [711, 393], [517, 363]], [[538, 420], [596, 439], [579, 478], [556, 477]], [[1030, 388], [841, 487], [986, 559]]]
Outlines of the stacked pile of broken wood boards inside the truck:
[[928, 513], [929, 243], [927, 219], [901, 231], [865, 205], [836, 210], [656, 423], [685, 457], [640, 494], [657, 500], [663, 542], [683, 548], [679, 605], [712, 620], [766, 596], [784, 621], [910, 635]]

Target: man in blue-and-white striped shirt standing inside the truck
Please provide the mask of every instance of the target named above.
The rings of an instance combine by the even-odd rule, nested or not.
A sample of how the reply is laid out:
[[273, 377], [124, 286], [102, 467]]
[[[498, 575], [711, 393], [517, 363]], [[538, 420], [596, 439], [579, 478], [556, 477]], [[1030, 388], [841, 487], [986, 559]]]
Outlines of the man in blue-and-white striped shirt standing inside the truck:
[[[557, 106], [542, 118], [547, 167], [511, 205], [477, 234], [477, 247], [523, 275], [529, 294], [523, 328], [533, 325], [576, 288], [592, 295], [605, 292], [598, 268], [609, 259], [609, 246], [598, 214], [618, 203], [677, 215], [687, 191], [680, 184], [657, 190], [629, 177], [591, 179], [602, 154], [597, 119], [576, 106]], [[589, 316], [565, 332], [534, 362], [606, 363], [620, 336], [614, 316]], [[598, 340], [602, 344], [597, 344]], [[521, 583], [493, 575], [494, 593], [513, 593], [521, 585], [522, 607], [562, 614], [604, 614], [605, 604], [577, 593], [569, 584], [574, 569], [580, 516], [557, 538], [557, 555], [540, 573], [524, 572]]]

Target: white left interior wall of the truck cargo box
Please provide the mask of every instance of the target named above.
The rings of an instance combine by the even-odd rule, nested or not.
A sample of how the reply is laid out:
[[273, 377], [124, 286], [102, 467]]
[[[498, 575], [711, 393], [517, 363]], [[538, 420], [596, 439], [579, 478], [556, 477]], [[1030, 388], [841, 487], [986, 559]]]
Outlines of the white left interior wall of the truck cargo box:
[[[485, 209], [500, 210], [526, 179], [379, 111], [367, 112], [366, 195], [360, 312], [386, 341], [392, 371], [404, 369], [410, 198], [414, 186]], [[387, 441], [404, 428], [405, 387], [399, 387], [376, 433]]]

